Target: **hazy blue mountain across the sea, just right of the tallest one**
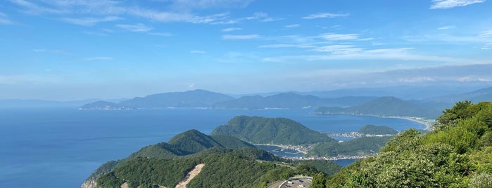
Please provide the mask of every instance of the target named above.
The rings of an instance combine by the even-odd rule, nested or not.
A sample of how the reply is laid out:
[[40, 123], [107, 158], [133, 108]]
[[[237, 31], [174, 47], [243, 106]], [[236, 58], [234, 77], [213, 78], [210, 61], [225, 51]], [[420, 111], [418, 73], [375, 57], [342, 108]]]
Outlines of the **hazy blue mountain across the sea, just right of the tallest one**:
[[360, 105], [373, 100], [372, 97], [318, 98], [313, 95], [296, 93], [279, 93], [263, 97], [260, 95], [244, 96], [235, 100], [217, 102], [217, 109], [265, 109], [265, 108], [315, 108], [323, 106], [347, 107]]

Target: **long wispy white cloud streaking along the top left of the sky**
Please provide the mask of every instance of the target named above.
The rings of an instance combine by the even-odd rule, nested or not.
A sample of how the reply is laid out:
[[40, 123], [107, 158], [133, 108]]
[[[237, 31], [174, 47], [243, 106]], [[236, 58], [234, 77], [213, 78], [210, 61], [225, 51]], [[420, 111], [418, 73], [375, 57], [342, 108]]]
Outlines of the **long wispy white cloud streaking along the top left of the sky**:
[[[158, 22], [190, 22], [198, 24], [226, 24], [236, 23], [238, 20], [229, 19], [227, 13], [214, 15], [195, 15], [193, 9], [214, 8], [214, 7], [243, 7], [247, 6], [251, 0], [170, 0], [162, 2], [162, 6], [168, 11], [158, 11], [155, 9], [142, 8], [135, 5], [125, 5], [125, 2], [113, 0], [65, 0], [65, 1], [42, 1], [30, 2], [25, 0], [11, 0], [13, 4], [20, 6], [23, 12], [30, 14], [51, 14], [51, 15], [106, 15], [122, 17], [122, 15], [132, 15], [139, 18], [146, 18]], [[186, 8], [183, 8], [186, 7]], [[107, 17], [106, 17], [107, 18]], [[90, 26], [96, 22], [101, 22], [101, 18], [62, 18], [65, 22], [78, 25]], [[244, 18], [246, 19], [246, 18]], [[243, 19], [243, 20], [244, 20]], [[248, 19], [272, 20], [266, 13], [255, 13]]]

